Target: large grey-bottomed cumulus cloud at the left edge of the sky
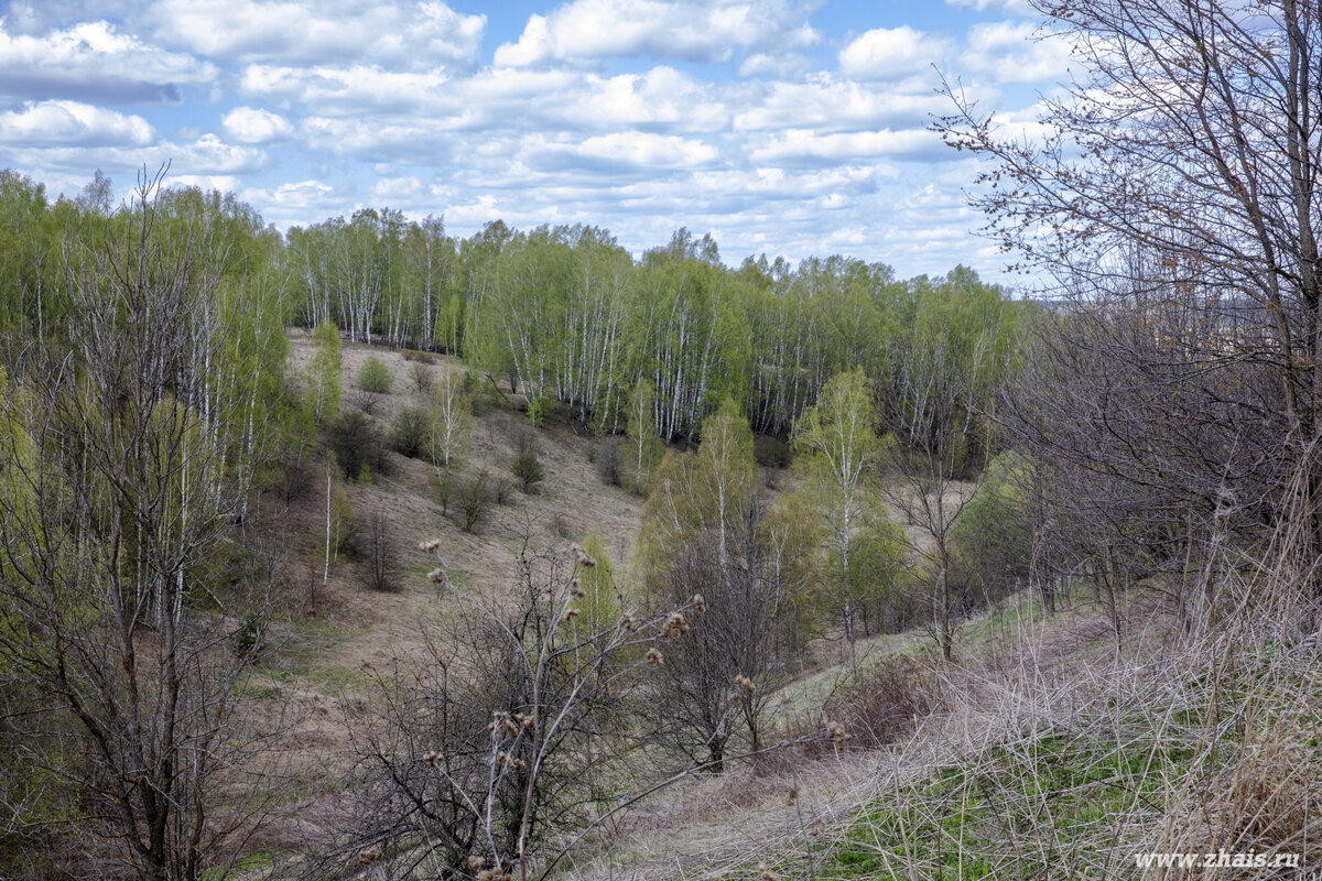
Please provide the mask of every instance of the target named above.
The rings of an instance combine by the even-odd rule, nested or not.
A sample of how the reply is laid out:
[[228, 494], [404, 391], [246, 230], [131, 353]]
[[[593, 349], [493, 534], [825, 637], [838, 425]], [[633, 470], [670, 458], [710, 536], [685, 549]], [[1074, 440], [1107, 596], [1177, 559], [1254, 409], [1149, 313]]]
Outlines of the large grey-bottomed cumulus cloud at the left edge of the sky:
[[120, 33], [106, 21], [41, 36], [12, 34], [0, 18], [0, 94], [116, 103], [177, 103], [181, 86], [212, 82], [215, 67]]

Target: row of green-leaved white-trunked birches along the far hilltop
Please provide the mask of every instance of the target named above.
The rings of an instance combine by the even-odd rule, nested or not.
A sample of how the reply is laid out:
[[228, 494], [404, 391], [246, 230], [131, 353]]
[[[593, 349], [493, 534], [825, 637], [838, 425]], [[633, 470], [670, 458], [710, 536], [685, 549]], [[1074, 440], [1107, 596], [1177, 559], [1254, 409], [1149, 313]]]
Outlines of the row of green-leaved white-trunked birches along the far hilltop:
[[[110, 213], [106, 190], [98, 177], [82, 197], [50, 202], [41, 185], [0, 177], [7, 329], [54, 320], [41, 292], [58, 285], [61, 242]], [[163, 206], [219, 234], [226, 265], [278, 292], [287, 325], [332, 322], [353, 341], [460, 355], [598, 431], [624, 429], [629, 391], [645, 379], [668, 441], [693, 439], [724, 398], [754, 431], [784, 436], [830, 376], [854, 367], [884, 391], [924, 326], [954, 328], [964, 358], [1006, 362], [1027, 308], [964, 267], [899, 280], [843, 256], [797, 267], [760, 256], [731, 269], [710, 236], [683, 229], [636, 260], [591, 226], [497, 221], [460, 239], [435, 217], [364, 209], [282, 236], [231, 194], [177, 189]]]

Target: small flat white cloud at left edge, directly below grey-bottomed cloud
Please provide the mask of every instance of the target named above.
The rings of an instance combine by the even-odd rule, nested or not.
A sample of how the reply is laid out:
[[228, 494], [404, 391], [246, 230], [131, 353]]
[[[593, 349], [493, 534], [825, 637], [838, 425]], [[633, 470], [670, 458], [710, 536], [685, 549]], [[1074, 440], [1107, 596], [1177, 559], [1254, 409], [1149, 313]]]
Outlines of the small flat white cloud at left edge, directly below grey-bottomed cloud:
[[141, 116], [127, 116], [74, 100], [28, 102], [0, 112], [0, 143], [21, 147], [144, 147], [156, 131]]

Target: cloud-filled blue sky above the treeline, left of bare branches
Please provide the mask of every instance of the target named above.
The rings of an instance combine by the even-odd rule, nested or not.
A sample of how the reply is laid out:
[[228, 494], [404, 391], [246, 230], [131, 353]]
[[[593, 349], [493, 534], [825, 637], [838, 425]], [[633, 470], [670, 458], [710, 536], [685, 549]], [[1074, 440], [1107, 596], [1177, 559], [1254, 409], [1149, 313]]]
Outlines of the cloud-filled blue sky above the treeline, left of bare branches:
[[234, 190], [280, 229], [361, 206], [453, 234], [678, 226], [722, 258], [998, 277], [939, 73], [1026, 118], [1066, 77], [1021, 0], [16, 0], [0, 166]]

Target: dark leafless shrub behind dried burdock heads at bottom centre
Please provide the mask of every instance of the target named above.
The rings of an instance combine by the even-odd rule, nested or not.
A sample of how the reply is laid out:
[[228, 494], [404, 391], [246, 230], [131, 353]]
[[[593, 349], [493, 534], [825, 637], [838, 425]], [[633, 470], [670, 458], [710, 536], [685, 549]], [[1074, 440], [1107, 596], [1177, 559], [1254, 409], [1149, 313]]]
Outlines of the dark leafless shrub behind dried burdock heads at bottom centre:
[[358, 828], [309, 865], [313, 874], [386, 861], [401, 877], [419, 868], [546, 877], [574, 841], [636, 800], [632, 686], [683, 651], [685, 616], [698, 604], [582, 630], [579, 584], [595, 565], [578, 546], [525, 544], [508, 608], [434, 576], [468, 613], [428, 641], [424, 658], [381, 679], [382, 700], [354, 728]]

